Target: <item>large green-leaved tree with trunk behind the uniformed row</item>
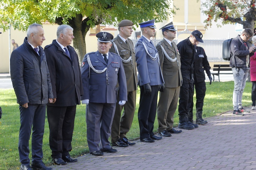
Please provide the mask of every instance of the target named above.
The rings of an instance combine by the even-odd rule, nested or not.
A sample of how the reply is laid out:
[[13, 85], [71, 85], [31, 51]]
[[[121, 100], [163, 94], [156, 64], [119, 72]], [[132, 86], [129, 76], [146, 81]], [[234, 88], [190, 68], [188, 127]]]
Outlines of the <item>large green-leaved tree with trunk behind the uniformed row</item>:
[[[138, 23], [155, 18], [167, 20], [175, 14], [172, 0], [1, 0], [0, 28], [27, 30], [31, 23], [69, 24], [73, 29], [73, 46], [80, 57], [86, 54], [85, 35], [98, 24], [114, 24], [129, 19]], [[174, 7], [175, 8], [175, 7]]]

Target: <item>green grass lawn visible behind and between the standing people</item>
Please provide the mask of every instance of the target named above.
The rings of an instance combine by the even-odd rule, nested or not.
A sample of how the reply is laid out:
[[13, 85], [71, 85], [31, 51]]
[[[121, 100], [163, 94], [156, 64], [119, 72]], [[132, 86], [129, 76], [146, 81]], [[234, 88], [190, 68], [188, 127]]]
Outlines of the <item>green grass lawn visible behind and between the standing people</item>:
[[[207, 91], [204, 99], [203, 118], [216, 116], [220, 113], [233, 110], [232, 94], [234, 82], [213, 82], [206, 84]], [[243, 94], [243, 106], [251, 106], [251, 88], [250, 82], [246, 83]], [[133, 118], [133, 124], [130, 132], [127, 134], [128, 139], [139, 137], [138, 125], [138, 108], [139, 108], [140, 91], [137, 91], [137, 107]], [[194, 96], [194, 104], [196, 99]], [[19, 108], [16, 103], [16, 96], [13, 89], [0, 89], [0, 106], [3, 110], [2, 119], [0, 119], [0, 169], [19, 169], [18, 155], [18, 136], [19, 136]], [[195, 107], [194, 107], [195, 113]], [[194, 114], [195, 120], [195, 114]], [[174, 115], [174, 126], [179, 122], [178, 112]], [[154, 131], [157, 132], [157, 119], [155, 119]], [[199, 127], [200, 128], [200, 127]], [[51, 164], [51, 150], [49, 148], [49, 128], [47, 118], [45, 119], [45, 133], [43, 139], [44, 163]], [[31, 142], [31, 140], [30, 140]], [[75, 128], [72, 141], [73, 150], [71, 156], [76, 157], [88, 153], [86, 140], [86, 122], [85, 122], [85, 105], [77, 106]], [[31, 147], [31, 143], [30, 143]], [[31, 155], [30, 155], [31, 158]]]

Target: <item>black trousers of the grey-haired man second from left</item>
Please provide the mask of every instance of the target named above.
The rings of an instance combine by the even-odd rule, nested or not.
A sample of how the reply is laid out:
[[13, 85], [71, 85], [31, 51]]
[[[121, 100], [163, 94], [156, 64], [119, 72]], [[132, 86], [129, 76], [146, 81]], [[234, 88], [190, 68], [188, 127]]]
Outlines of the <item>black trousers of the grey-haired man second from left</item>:
[[68, 156], [75, 122], [75, 106], [46, 106], [49, 123], [49, 144], [53, 158]]

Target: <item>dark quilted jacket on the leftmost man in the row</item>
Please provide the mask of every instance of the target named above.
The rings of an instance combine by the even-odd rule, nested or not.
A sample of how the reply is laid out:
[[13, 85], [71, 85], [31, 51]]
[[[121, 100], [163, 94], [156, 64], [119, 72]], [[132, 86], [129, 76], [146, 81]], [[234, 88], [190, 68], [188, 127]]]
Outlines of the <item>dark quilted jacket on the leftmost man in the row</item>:
[[25, 103], [47, 104], [48, 98], [53, 99], [50, 73], [40, 46], [39, 55], [28, 43], [27, 37], [11, 54], [11, 80], [20, 106]]

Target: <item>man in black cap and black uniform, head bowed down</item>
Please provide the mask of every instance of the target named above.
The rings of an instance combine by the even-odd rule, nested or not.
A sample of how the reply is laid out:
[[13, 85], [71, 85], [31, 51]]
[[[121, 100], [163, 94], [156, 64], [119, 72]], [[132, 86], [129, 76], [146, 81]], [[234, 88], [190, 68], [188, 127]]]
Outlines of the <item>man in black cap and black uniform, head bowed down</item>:
[[188, 108], [190, 106], [191, 100], [193, 100], [193, 72], [195, 66], [194, 56], [196, 52], [196, 43], [198, 41], [203, 43], [202, 37], [202, 33], [198, 30], [195, 30], [189, 37], [177, 44], [177, 48], [181, 55], [181, 74], [183, 79], [178, 108], [180, 119], [178, 128], [189, 130], [198, 128], [197, 124], [194, 124], [188, 120]]

